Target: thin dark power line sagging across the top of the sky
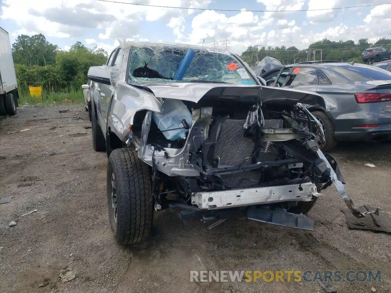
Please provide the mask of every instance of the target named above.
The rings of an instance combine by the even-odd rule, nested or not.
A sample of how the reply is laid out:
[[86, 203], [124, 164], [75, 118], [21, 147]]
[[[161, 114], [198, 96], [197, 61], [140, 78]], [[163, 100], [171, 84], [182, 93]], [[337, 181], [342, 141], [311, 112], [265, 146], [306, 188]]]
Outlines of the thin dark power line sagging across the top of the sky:
[[[235, 11], [241, 12], [243, 10], [231, 10], [231, 9], [212, 9], [212, 8], [190, 8], [190, 7], [176, 7], [176, 6], [163, 6], [163, 5], [150, 5], [150, 4], [139, 4], [139, 3], [128, 3], [120, 1], [111, 1], [111, 0], [96, 0], [100, 2], [109, 2], [109, 3], [119, 3], [119, 4], [128, 4], [128, 5], [137, 5], [137, 6], [147, 6], [147, 7], [160, 7], [160, 8], [176, 8], [176, 9], [194, 9], [194, 10], [214, 10], [214, 11]], [[246, 10], [249, 12], [300, 12], [300, 11], [323, 11], [323, 10], [336, 10], [336, 9], [347, 9], [347, 8], [360, 8], [360, 7], [371, 7], [377, 5], [386, 5], [391, 4], [382, 3], [382, 4], [367, 4], [367, 5], [356, 5], [356, 6], [346, 6], [346, 7], [334, 7], [334, 8], [322, 8], [322, 9], [300, 9], [300, 10]]]

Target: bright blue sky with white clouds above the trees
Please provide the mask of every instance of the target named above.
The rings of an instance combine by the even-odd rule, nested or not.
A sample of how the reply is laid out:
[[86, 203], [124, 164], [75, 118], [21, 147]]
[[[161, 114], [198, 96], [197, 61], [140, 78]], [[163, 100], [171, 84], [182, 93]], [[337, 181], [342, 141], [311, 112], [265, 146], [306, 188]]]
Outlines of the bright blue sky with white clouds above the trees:
[[[9, 32], [11, 43], [20, 34], [42, 33], [50, 43], [64, 50], [81, 41], [89, 48], [98, 46], [109, 53], [118, 45], [118, 39], [221, 49], [228, 40], [228, 50], [240, 54], [251, 45], [304, 49], [324, 38], [332, 41], [368, 38], [369, 42], [391, 38], [391, 0], [117, 1], [190, 9], [99, 0], [0, 0], [0, 27]], [[330, 10], [372, 4], [376, 5]], [[308, 9], [327, 10], [286, 12]], [[251, 12], [256, 10], [278, 12]]]

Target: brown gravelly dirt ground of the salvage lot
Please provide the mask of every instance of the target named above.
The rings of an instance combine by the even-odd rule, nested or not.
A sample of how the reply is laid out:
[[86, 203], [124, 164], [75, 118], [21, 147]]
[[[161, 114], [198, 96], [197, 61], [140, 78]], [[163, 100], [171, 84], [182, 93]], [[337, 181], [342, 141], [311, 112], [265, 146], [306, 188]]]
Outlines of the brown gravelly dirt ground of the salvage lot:
[[[120, 247], [108, 224], [106, 154], [91, 147], [83, 106], [58, 113], [67, 108], [23, 107], [0, 120], [0, 195], [14, 196], [0, 205], [0, 292], [324, 292], [317, 282], [190, 282], [189, 271], [202, 269], [380, 270], [381, 282], [333, 286], [390, 292], [390, 235], [349, 230], [334, 187], [309, 213], [313, 232], [245, 218], [208, 230], [166, 210], [155, 213], [147, 243]], [[391, 211], [391, 144], [343, 144], [332, 155], [356, 205]]]

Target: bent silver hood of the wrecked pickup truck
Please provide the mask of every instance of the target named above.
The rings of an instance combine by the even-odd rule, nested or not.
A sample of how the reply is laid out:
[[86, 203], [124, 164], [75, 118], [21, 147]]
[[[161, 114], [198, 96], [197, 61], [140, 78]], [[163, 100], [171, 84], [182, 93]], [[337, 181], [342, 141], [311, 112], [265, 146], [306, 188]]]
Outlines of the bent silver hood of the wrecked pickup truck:
[[275, 88], [268, 86], [249, 86], [240, 84], [218, 84], [198, 82], [143, 82], [132, 84], [148, 88], [158, 98], [169, 98], [199, 102], [208, 96], [231, 100], [257, 100], [264, 104], [294, 105], [298, 102], [308, 105], [320, 105], [326, 108], [325, 100], [317, 93], [297, 89]]

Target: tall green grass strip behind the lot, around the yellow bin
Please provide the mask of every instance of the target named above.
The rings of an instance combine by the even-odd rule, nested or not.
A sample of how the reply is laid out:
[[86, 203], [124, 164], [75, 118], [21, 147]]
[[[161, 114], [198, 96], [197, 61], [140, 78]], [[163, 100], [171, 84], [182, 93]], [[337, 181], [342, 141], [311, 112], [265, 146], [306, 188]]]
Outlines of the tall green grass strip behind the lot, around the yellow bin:
[[54, 105], [67, 103], [84, 103], [83, 89], [75, 86], [69, 86], [62, 91], [54, 91], [53, 89], [42, 89], [41, 96], [30, 95], [27, 84], [20, 83], [18, 87], [19, 104], [20, 105]]

